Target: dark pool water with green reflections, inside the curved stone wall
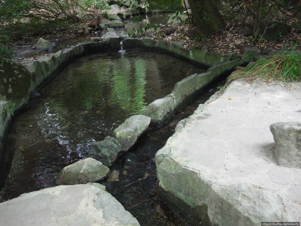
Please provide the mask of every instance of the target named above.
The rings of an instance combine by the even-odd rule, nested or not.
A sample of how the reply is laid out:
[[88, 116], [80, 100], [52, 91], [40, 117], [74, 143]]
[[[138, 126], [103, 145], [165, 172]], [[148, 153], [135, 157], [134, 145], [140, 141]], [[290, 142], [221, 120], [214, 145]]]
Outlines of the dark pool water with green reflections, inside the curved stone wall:
[[57, 173], [86, 158], [93, 141], [202, 71], [159, 52], [106, 52], [71, 61], [14, 118], [1, 164], [4, 198], [56, 186]]

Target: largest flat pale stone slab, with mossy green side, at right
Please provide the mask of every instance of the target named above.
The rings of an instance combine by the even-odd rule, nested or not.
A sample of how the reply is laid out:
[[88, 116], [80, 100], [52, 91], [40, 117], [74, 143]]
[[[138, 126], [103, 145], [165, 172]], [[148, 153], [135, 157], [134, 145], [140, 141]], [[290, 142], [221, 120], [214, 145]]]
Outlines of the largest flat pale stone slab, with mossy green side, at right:
[[301, 83], [280, 84], [236, 80], [181, 121], [156, 154], [170, 203], [203, 208], [210, 225], [301, 221], [301, 169], [277, 165], [269, 129], [301, 120]]

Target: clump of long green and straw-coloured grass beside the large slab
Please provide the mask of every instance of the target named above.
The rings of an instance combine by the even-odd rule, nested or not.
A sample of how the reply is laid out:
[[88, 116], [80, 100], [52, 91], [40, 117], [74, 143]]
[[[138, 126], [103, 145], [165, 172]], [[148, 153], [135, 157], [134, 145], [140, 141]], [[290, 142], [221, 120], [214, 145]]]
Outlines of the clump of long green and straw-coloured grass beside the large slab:
[[301, 54], [295, 52], [297, 43], [291, 51], [284, 49], [275, 55], [261, 59], [250, 67], [232, 72], [226, 84], [236, 79], [245, 78], [247, 82], [253, 83], [256, 80], [301, 80]]

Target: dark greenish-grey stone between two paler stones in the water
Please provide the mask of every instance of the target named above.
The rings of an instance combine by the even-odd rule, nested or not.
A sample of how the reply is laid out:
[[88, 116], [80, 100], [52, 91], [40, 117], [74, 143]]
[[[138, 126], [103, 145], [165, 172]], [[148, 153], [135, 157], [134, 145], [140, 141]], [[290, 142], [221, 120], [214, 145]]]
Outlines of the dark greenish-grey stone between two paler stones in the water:
[[122, 151], [123, 147], [116, 138], [106, 137], [103, 141], [95, 141], [92, 143], [89, 150], [89, 157], [108, 166], [115, 162], [119, 153]]

